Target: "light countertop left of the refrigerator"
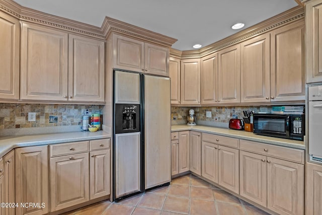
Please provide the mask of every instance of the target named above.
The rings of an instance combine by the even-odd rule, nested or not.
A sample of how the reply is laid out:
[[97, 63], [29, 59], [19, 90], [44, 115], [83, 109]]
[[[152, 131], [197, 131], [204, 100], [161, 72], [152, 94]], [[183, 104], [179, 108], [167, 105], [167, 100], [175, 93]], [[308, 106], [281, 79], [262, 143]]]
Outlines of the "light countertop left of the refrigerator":
[[0, 137], [0, 157], [6, 155], [11, 150], [19, 147], [61, 144], [63, 142], [103, 139], [110, 137], [111, 134], [106, 133], [104, 131], [76, 131], [21, 136], [2, 136]]

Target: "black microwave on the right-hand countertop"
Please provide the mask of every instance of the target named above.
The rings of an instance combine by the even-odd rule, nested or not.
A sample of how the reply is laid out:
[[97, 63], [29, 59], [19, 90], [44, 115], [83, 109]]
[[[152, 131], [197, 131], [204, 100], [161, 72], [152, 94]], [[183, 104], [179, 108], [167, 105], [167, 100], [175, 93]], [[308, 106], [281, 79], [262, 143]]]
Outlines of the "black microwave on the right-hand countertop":
[[254, 133], [303, 140], [304, 114], [254, 114]]

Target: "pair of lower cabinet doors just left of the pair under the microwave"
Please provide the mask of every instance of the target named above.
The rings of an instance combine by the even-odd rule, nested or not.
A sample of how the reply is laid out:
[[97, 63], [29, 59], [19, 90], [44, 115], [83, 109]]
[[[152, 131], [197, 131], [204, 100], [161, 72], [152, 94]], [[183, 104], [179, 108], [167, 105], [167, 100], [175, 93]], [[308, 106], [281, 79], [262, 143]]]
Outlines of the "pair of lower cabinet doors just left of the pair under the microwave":
[[202, 141], [203, 177], [239, 194], [238, 150]]

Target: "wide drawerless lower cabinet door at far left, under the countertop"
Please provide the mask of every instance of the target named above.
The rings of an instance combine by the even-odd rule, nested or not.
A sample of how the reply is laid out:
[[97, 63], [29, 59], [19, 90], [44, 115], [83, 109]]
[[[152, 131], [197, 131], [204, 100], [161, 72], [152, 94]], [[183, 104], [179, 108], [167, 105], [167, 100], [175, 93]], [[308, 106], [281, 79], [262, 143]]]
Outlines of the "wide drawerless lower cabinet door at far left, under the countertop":
[[[47, 146], [16, 149], [16, 202], [39, 203], [39, 207], [17, 207], [16, 214], [48, 212]], [[45, 207], [41, 207], [44, 203]]]

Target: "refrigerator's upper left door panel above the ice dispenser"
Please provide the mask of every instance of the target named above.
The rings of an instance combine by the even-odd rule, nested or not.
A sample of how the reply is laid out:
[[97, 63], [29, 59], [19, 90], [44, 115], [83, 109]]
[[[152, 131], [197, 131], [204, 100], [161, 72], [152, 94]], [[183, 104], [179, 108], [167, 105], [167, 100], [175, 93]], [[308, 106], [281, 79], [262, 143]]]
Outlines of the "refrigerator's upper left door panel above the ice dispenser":
[[115, 71], [115, 103], [140, 104], [140, 75]]

